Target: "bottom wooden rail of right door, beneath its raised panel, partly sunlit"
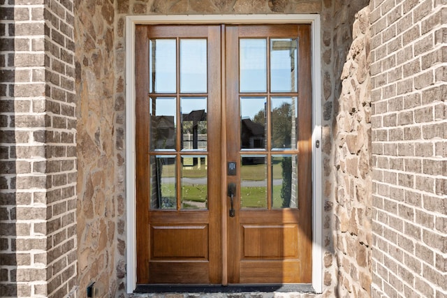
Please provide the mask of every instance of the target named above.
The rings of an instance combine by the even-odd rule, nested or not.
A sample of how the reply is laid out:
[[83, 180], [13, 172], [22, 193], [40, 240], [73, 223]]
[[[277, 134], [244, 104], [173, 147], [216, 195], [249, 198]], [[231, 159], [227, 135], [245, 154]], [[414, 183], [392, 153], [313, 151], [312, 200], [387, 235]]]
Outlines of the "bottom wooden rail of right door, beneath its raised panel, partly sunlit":
[[296, 283], [302, 275], [299, 260], [240, 262], [240, 283]]

